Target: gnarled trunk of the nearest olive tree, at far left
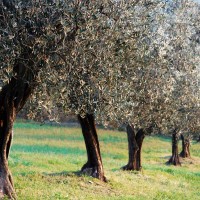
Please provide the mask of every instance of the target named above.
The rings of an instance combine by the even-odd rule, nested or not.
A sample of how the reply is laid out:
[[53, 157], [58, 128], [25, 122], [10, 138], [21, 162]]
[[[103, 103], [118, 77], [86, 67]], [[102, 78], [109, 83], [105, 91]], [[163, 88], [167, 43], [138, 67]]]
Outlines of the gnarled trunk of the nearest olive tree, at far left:
[[12, 77], [0, 92], [0, 199], [5, 196], [16, 199], [12, 176], [8, 169], [12, 129], [16, 114], [31, 95], [34, 85], [32, 83], [35, 80], [32, 70], [20, 62], [15, 64], [13, 71], [15, 77]]

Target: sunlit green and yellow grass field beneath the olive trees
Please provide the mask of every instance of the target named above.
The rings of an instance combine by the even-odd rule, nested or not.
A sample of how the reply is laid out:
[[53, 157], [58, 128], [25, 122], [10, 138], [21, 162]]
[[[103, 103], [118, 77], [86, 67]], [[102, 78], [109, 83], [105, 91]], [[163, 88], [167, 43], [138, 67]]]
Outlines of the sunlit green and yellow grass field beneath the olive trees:
[[108, 183], [79, 176], [86, 151], [79, 128], [17, 123], [9, 157], [19, 200], [57, 199], [200, 199], [200, 144], [191, 147], [192, 159], [181, 167], [167, 166], [171, 142], [146, 137], [142, 172], [124, 172], [127, 164], [125, 132], [98, 130]]

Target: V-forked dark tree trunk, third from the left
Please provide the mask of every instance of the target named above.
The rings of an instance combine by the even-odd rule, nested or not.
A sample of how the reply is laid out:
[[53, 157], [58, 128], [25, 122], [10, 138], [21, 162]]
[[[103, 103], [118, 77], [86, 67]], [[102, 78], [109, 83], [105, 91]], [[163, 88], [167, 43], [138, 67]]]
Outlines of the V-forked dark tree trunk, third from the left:
[[142, 150], [142, 143], [145, 137], [145, 132], [143, 129], [140, 129], [135, 135], [133, 125], [128, 125], [127, 136], [128, 136], [129, 159], [128, 159], [128, 164], [122, 167], [122, 169], [140, 171], [142, 168], [141, 150]]

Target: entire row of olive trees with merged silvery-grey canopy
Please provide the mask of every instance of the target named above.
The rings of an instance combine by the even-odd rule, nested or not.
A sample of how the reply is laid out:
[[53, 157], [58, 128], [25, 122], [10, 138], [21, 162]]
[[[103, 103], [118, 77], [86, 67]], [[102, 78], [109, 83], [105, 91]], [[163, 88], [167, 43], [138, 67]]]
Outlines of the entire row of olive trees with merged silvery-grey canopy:
[[95, 121], [128, 124], [124, 169], [141, 168], [153, 129], [198, 129], [199, 11], [186, 0], [1, 0], [0, 198], [16, 198], [8, 154], [27, 101], [32, 118], [44, 110], [51, 119], [78, 115], [88, 155], [82, 171], [101, 180]]

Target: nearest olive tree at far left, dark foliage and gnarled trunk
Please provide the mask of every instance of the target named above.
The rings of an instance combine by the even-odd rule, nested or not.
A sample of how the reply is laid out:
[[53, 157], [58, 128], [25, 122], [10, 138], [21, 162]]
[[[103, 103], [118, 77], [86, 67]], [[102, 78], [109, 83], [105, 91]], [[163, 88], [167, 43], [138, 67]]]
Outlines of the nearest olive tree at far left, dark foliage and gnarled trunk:
[[65, 69], [76, 13], [73, 1], [0, 1], [0, 198], [16, 197], [8, 169], [16, 115], [39, 85], [54, 78], [55, 66]]

